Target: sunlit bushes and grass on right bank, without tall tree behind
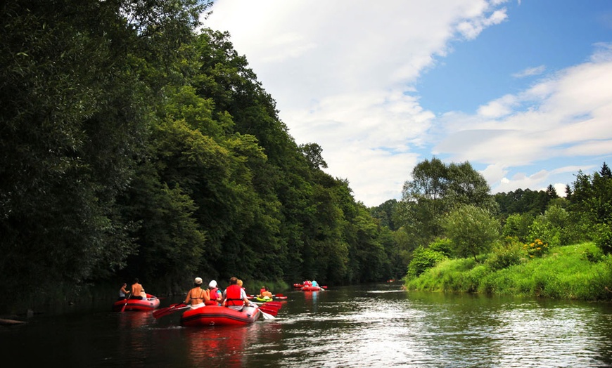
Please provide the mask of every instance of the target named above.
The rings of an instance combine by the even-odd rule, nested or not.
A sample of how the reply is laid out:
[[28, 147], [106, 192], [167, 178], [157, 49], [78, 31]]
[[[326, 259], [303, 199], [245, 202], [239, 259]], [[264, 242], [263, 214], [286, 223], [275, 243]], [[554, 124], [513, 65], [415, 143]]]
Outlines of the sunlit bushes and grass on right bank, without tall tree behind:
[[[604, 163], [592, 176], [579, 172], [576, 178], [566, 198], [559, 198], [552, 185], [546, 191], [495, 195], [497, 213], [476, 204], [454, 204], [439, 223], [452, 251], [447, 258], [433, 256], [439, 239], [416, 249], [407, 287], [612, 298], [612, 176]], [[576, 247], [570, 244], [585, 241], [592, 242], [573, 253]]]

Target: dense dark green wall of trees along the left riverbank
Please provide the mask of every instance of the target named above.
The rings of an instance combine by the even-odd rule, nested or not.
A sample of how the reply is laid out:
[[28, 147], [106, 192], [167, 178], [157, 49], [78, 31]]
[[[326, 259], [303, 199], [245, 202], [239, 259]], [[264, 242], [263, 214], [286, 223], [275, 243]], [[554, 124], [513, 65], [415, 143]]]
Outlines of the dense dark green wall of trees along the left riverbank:
[[405, 272], [393, 233], [322, 171], [319, 145], [295, 143], [229, 34], [196, 32], [209, 6], [1, 4], [3, 294]]

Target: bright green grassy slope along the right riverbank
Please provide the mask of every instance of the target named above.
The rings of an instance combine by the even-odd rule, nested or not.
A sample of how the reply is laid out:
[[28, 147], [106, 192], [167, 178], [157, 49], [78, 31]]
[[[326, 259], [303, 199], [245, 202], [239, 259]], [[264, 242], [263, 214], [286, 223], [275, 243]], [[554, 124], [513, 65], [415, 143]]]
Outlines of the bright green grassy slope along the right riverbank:
[[[551, 249], [542, 258], [521, 258], [495, 270], [481, 256], [447, 259], [406, 281], [409, 290], [612, 300], [612, 256], [592, 243]], [[608, 291], [608, 289], [610, 291]]]

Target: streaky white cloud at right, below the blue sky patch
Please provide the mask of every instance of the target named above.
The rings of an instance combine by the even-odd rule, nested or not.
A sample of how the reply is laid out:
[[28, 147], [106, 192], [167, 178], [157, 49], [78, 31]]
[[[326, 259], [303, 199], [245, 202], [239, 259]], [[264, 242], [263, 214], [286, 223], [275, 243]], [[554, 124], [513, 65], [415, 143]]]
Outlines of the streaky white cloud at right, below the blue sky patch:
[[[561, 173], [591, 169], [590, 165], [563, 164], [575, 157], [612, 154], [612, 84], [608, 82], [612, 61], [591, 60], [597, 61], [562, 70], [523, 93], [493, 100], [480, 107], [478, 114], [447, 114], [444, 123], [449, 134], [436, 152], [451, 154], [453, 161], [488, 164], [483, 176], [495, 192], [546, 188]], [[559, 169], [506, 177], [511, 167], [556, 158]]]

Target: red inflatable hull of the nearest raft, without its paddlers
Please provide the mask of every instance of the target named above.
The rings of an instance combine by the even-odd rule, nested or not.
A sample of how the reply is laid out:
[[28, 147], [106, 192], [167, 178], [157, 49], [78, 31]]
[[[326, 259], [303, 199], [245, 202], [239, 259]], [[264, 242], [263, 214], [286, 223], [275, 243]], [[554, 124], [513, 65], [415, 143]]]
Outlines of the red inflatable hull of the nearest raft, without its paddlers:
[[253, 323], [261, 314], [259, 308], [245, 306], [242, 311], [231, 308], [207, 305], [197, 309], [189, 309], [183, 313], [183, 326], [236, 326]]

